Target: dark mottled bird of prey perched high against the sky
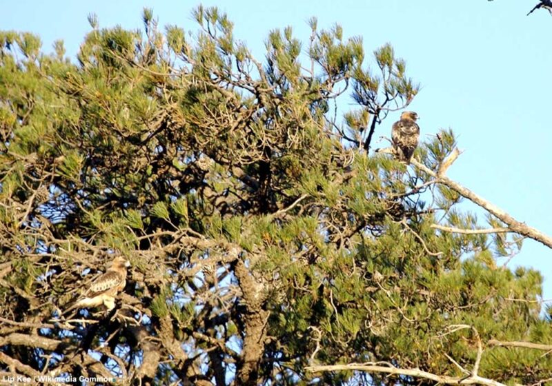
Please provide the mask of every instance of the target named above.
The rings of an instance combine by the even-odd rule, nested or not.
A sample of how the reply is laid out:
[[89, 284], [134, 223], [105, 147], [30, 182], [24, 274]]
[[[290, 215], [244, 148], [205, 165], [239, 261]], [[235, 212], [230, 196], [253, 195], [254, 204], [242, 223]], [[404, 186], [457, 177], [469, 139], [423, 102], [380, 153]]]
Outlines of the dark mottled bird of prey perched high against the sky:
[[420, 139], [420, 126], [416, 123], [417, 119], [418, 114], [405, 111], [401, 114], [401, 119], [393, 123], [393, 130], [391, 130], [393, 151], [397, 159], [404, 163], [410, 163]]

